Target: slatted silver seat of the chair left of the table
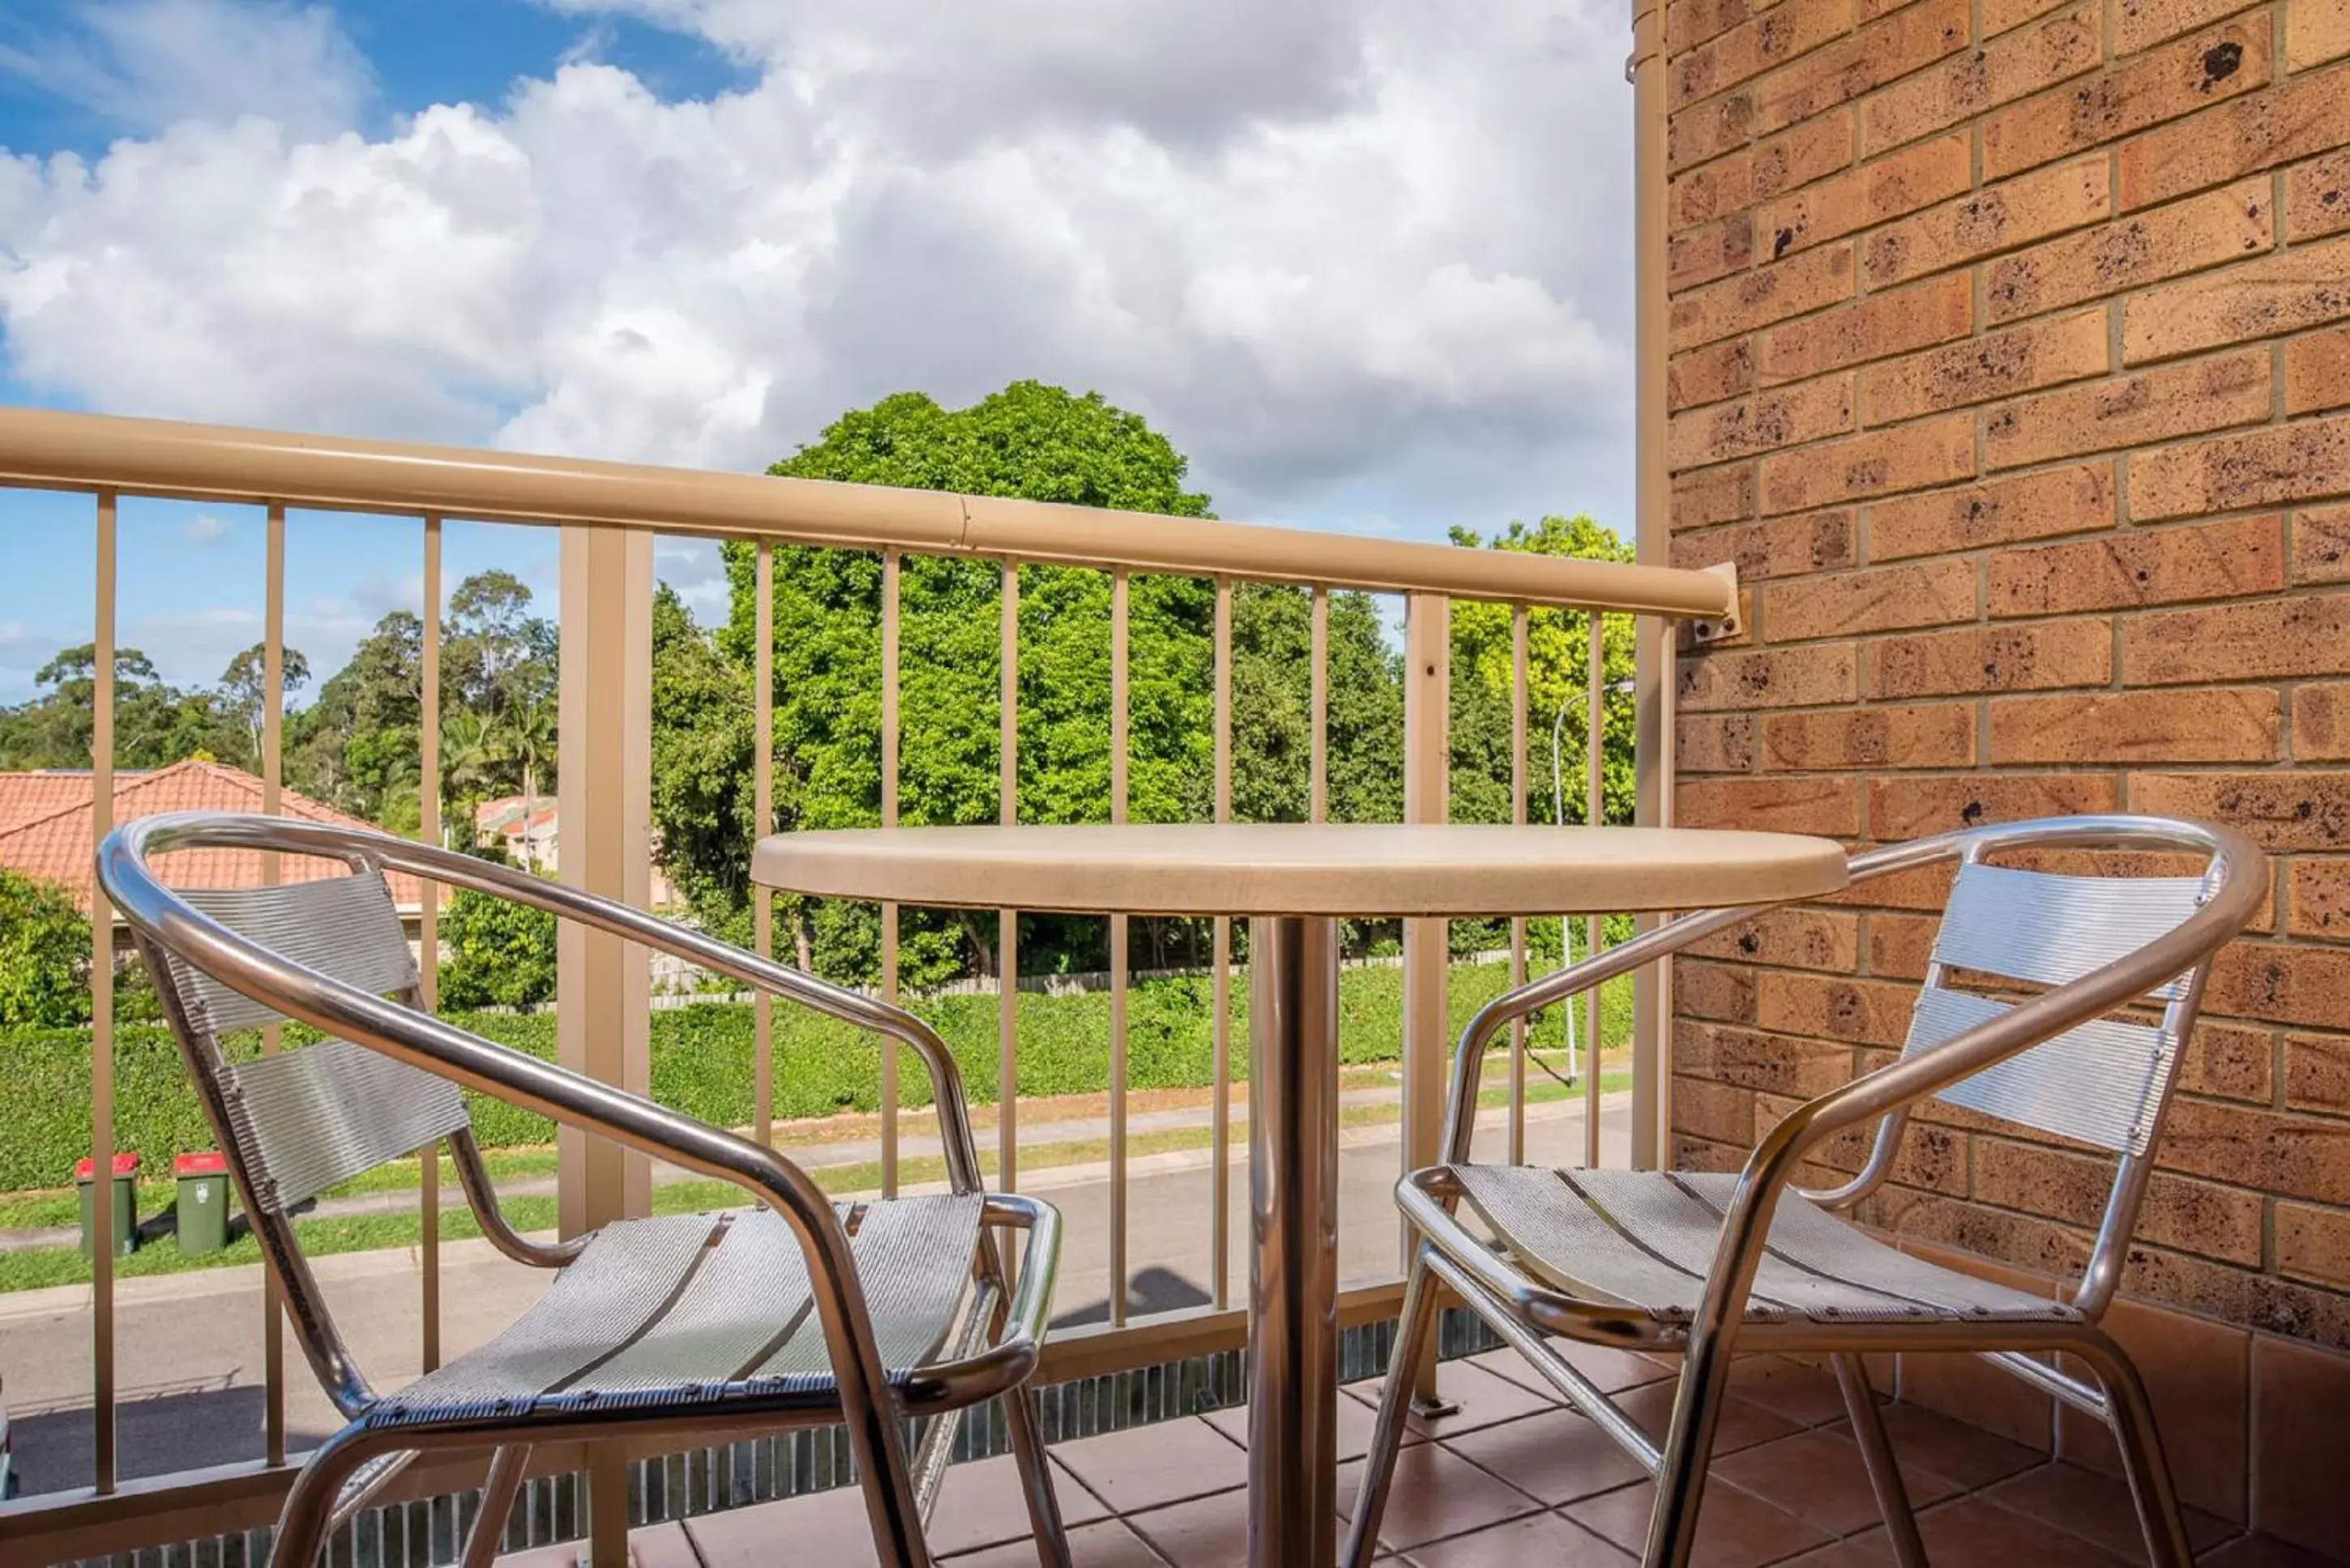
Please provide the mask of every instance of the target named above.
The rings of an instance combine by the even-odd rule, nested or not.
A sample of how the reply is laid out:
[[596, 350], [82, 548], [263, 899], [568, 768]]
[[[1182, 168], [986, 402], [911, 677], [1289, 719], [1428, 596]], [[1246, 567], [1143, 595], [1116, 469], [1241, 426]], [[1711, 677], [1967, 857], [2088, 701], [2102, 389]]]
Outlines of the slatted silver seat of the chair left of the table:
[[[893, 1380], [933, 1361], [956, 1326], [982, 1201], [837, 1206]], [[745, 1208], [606, 1225], [498, 1338], [383, 1396], [364, 1422], [830, 1389], [799, 1239], [783, 1215]]]

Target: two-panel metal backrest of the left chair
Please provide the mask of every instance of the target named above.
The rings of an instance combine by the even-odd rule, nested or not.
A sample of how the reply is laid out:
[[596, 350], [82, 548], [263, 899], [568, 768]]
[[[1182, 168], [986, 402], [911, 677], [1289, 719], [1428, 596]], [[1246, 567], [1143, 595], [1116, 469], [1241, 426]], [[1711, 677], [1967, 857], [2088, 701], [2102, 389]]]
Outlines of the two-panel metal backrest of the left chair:
[[[383, 872], [261, 889], [183, 889], [190, 905], [237, 936], [327, 978], [416, 1006], [416, 959]], [[160, 959], [188, 1072], [240, 1171], [249, 1204], [282, 1215], [388, 1159], [465, 1131], [465, 1098], [449, 1079], [348, 1039], [230, 1060], [221, 1037], [280, 1023], [280, 1013], [186, 959]]]

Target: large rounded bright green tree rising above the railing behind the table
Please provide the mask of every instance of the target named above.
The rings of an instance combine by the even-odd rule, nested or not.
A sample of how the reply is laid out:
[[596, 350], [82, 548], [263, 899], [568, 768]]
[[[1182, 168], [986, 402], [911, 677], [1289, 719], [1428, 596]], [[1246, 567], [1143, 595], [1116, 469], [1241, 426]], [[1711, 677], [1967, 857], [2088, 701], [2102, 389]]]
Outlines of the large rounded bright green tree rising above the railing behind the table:
[[[902, 393], [834, 421], [773, 473], [806, 480], [1022, 496], [1072, 505], [1203, 517], [1208, 498], [1182, 487], [1184, 458], [1140, 416], [1100, 395], [1076, 397], [1034, 381], [968, 409]], [[733, 679], [752, 668], [757, 571], [750, 545], [726, 545], [731, 616], [714, 649]], [[1210, 773], [1210, 630], [1215, 590], [1191, 578], [1140, 576], [1128, 585], [1130, 813], [1182, 820], [1206, 813]], [[1001, 574], [992, 562], [907, 557], [900, 576], [900, 820], [996, 818]], [[1020, 809], [1025, 820], [1109, 816], [1109, 602], [1104, 571], [1027, 567], [1020, 574]], [[672, 621], [674, 625], [674, 621]], [[881, 559], [848, 550], [776, 552], [776, 813], [783, 827], [853, 827], [881, 816]], [[670, 644], [679, 649], [682, 644]], [[658, 658], [658, 656], [656, 656]], [[672, 654], [693, 675], [691, 698], [656, 696], [656, 750], [747, 745], [747, 710], [710, 701], [714, 668]], [[667, 715], [667, 717], [665, 717]], [[689, 738], [700, 736], [700, 738]], [[747, 755], [747, 750], [743, 752]], [[747, 898], [750, 813], [710, 790], [682, 788], [656, 804], [663, 863], [682, 889], [700, 889], [705, 919], [726, 924]], [[731, 818], [731, 820], [728, 820]], [[799, 954], [827, 973], [865, 976], [877, 954], [862, 905], [785, 903]], [[964, 947], [994, 966], [994, 919], [909, 914], [909, 980], [945, 976]], [[1097, 922], [1036, 917], [1022, 952], [1081, 966], [1100, 947]]]

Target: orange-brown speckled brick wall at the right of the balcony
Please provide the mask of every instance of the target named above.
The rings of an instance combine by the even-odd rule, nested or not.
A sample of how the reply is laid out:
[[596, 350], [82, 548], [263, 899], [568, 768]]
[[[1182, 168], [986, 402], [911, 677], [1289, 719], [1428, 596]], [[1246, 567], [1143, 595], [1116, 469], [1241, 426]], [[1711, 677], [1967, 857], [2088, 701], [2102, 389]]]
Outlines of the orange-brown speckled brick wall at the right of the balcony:
[[[1680, 820], [2249, 827], [2127, 1291], [2350, 1349], [2350, 0], [1673, 0], [1666, 47], [1673, 557], [1751, 597], [1680, 668]], [[1887, 1060], [1939, 886], [1680, 969], [1685, 1161]], [[2101, 1192], [1936, 1114], [1873, 1218], [2063, 1272]]]

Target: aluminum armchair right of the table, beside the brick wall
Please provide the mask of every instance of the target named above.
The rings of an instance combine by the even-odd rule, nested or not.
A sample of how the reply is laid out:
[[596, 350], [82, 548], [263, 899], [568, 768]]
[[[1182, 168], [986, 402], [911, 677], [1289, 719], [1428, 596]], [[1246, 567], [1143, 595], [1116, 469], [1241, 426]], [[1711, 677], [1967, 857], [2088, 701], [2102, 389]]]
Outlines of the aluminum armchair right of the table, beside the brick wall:
[[[1990, 860], [2000, 851], [2052, 849], [2188, 851], [2204, 872], [2077, 877]], [[1518, 987], [1469, 1023], [1455, 1058], [1443, 1161], [1396, 1185], [1415, 1248], [1342, 1554], [1349, 1568], [1363, 1568], [1377, 1549], [1412, 1366], [1436, 1319], [1436, 1284], [1450, 1286], [1654, 1476], [1647, 1568], [1690, 1561], [1734, 1352], [1833, 1361], [1901, 1568], [1922, 1568], [1927, 1556], [1864, 1354], [1974, 1352], [2106, 1420], [2153, 1563], [2190, 1566], [2146, 1385], [2099, 1319], [2122, 1274], [2204, 976], [2268, 898], [2265, 858], [2228, 827], [2094, 816], [1868, 851], [1852, 858], [1852, 882], [1943, 860], [1958, 860], [1958, 877], [1901, 1058], [1788, 1112], [1737, 1175], [1485, 1166], [1471, 1164], [1469, 1140], [1483, 1053], [1506, 1023], [1734, 926], [1753, 907], [1668, 922]], [[2160, 1004], [2160, 1020], [2110, 1018], [2141, 1004]], [[1906, 1114], [1927, 1098], [2120, 1157], [2082, 1279], [2063, 1298], [1943, 1269], [1838, 1218], [1894, 1168]], [[1817, 1192], [1793, 1185], [1826, 1140], [1866, 1121], [1875, 1121], [1875, 1143], [1856, 1175]], [[1680, 1387], [1664, 1441], [1567, 1363], [1551, 1335], [1678, 1356]], [[2052, 1349], [2077, 1356], [2096, 1382], [2033, 1359]]]

